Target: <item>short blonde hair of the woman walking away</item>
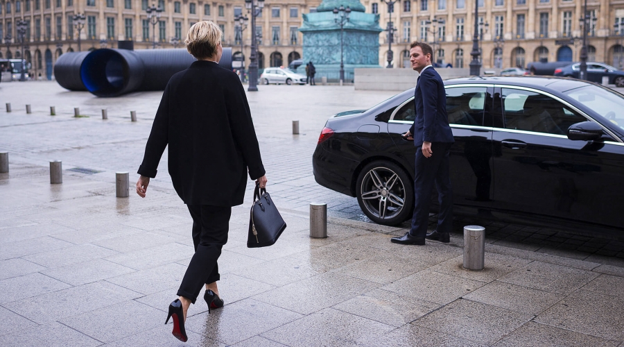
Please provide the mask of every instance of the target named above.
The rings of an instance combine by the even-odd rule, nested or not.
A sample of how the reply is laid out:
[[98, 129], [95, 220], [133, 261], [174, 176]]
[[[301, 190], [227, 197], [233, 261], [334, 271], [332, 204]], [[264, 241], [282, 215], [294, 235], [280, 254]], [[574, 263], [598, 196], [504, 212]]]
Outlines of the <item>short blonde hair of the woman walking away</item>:
[[197, 22], [189, 29], [187, 40], [187, 51], [197, 59], [214, 57], [218, 51], [218, 44], [221, 42], [223, 32], [218, 25], [212, 21]]

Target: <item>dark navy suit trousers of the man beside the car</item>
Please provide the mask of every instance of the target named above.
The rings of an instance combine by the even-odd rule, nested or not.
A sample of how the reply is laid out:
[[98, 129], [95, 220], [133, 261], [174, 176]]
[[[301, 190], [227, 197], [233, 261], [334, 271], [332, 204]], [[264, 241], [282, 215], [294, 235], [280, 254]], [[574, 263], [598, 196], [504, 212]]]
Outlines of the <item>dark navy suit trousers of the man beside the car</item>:
[[433, 185], [437, 187], [440, 212], [437, 214], [437, 232], [450, 232], [453, 225], [453, 192], [451, 189], [450, 155], [452, 142], [432, 142], [433, 155], [426, 158], [422, 146], [416, 148], [414, 179], [414, 214], [410, 235], [425, 237], [429, 219], [429, 205]]

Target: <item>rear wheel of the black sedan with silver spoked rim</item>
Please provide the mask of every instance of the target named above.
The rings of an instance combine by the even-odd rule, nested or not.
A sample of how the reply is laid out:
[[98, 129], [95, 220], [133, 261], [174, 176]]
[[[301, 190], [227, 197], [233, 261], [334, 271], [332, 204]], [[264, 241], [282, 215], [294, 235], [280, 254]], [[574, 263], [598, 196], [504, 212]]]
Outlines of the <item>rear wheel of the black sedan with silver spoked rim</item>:
[[396, 226], [413, 214], [412, 179], [390, 161], [371, 162], [362, 168], [356, 180], [356, 196], [362, 212], [384, 226]]

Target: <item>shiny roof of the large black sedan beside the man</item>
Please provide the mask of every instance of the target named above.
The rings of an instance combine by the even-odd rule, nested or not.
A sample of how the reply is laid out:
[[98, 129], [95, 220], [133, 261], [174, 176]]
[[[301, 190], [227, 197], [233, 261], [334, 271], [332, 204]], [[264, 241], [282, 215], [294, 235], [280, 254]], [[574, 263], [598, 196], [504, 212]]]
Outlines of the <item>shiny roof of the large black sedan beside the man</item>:
[[590, 85], [585, 81], [573, 78], [557, 77], [557, 76], [487, 76], [487, 77], [462, 77], [451, 78], [444, 81], [445, 85], [456, 84], [501, 84], [501, 85], [517, 85], [519, 87], [538, 87], [541, 90], [550, 89], [555, 92], [565, 92], [578, 87]]

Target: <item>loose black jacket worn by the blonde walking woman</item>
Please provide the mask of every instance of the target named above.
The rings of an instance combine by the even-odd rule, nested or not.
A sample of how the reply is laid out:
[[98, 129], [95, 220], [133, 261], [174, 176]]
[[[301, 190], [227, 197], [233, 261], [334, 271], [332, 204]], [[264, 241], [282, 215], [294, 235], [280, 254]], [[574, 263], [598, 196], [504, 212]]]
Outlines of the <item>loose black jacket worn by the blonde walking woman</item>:
[[265, 174], [241, 80], [215, 62], [198, 60], [171, 77], [139, 174], [156, 176], [167, 145], [173, 187], [187, 204], [240, 205], [248, 171], [252, 180]]

